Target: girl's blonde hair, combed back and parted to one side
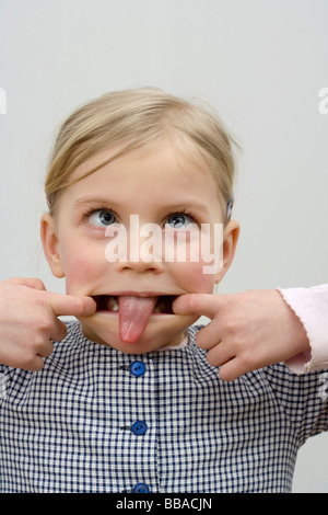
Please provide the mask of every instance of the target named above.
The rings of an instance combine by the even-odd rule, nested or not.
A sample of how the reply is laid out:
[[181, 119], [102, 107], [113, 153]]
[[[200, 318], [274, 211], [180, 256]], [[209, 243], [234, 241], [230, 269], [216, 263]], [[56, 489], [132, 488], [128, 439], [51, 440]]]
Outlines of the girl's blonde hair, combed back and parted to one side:
[[[154, 88], [104, 94], [73, 112], [54, 146], [45, 191], [50, 213], [60, 192], [72, 183], [72, 172], [110, 147], [120, 150], [84, 176], [129, 151], [169, 135], [185, 150], [198, 150], [218, 179], [223, 202], [233, 196], [232, 137], [219, 117], [196, 102]], [[80, 178], [82, 179], [82, 178]]]

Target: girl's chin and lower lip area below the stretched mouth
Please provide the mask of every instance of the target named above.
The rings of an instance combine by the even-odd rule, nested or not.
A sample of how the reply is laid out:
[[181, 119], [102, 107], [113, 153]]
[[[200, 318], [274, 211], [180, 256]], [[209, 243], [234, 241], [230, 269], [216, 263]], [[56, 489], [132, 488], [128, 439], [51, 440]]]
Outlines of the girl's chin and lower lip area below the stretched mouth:
[[142, 336], [133, 343], [120, 340], [117, 313], [95, 313], [79, 320], [89, 340], [126, 354], [145, 354], [165, 345], [178, 345], [185, 337], [186, 329], [197, 319], [185, 314], [152, 314]]

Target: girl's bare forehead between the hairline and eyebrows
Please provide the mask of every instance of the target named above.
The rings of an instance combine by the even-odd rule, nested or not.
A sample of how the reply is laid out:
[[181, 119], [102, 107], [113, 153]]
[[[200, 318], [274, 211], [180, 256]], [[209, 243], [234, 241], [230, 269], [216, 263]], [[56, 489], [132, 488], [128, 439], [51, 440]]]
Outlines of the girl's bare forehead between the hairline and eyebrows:
[[74, 196], [126, 197], [134, 205], [138, 198], [160, 203], [169, 196], [174, 203], [189, 198], [220, 206], [218, 181], [198, 152], [181, 151], [166, 140], [117, 157], [120, 150], [104, 150], [82, 163], [67, 190]]

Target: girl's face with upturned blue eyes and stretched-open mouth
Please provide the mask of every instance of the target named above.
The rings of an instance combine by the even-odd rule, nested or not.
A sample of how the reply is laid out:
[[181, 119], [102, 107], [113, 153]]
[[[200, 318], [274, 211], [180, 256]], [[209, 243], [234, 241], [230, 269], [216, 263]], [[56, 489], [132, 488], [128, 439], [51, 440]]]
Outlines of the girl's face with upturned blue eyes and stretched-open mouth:
[[[71, 179], [83, 176], [109, 159], [114, 150], [90, 159]], [[218, 184], [200, 159], [191, 161], [178, 156], [166, 140], [114, 160], [63, 190], [54, 217], [43, 216], [43, 244], [52, 273], [66, 277], [67, 293], [87, 295], [97, 301], [97, 311], [80, 319], [89, 339], [131, 354], [181, 342], [186, 328], [198, 317], [174, 314], [172, 300], [183, 294], [211, 294], [234, 255], [238, 228], [230, 222], [224, 230], [221, 272], [203, 273], [209, 263], [202, 261], [198, 237], [202, 224], [213, 227], [224, 221], [218, 197]], [[136, 222], [141, 231], [137, 238]], [[145, 230], [151, 227], [147, 224], [157, 228], [156, 240], [152, 238], [154, 232]], [[127, 243], [126, 249], [115, 245], [118, 232], [114, 229], [124, 229], [126, 239], [121, 241]], [[177, 260], [175, 253], [167, 260], [164, 250], [167, 252], [169, 244], [161, 248], [159, 234], [163, 242], [167, 237], [165, 241], [175, 245], [178, 239], [187, 241], [186, 259]], [[197, 245], [199, 259], [191, 261], [189, 250], [195, 251]], [[108, 255], [109, 250], [116, 259], [113, 252], [112, 258]], [[121, 339], [119, 333], [120, 324], [127, 325], [130, 306], [129, 299], [121, 305], [125, 314], [119, 322], [118, 302], [127, 295], [134, 302], [130, 309], [132, 318], [142, 306], [140, 296], [159, 296], [145, 330], [133, 342], [132, 336]]]

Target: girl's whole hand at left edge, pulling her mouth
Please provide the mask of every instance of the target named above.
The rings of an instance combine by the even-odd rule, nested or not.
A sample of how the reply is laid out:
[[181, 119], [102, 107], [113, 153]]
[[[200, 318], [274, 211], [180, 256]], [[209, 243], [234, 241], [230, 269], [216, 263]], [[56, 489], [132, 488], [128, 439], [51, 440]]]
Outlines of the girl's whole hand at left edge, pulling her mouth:
[[0, 283], [0, 363], [40, 370], [52, 342], [67, 329], [59, 316], [87, 317], [96, 310], [91, 297], [47, 291], [37, 278], [11, 278]]

